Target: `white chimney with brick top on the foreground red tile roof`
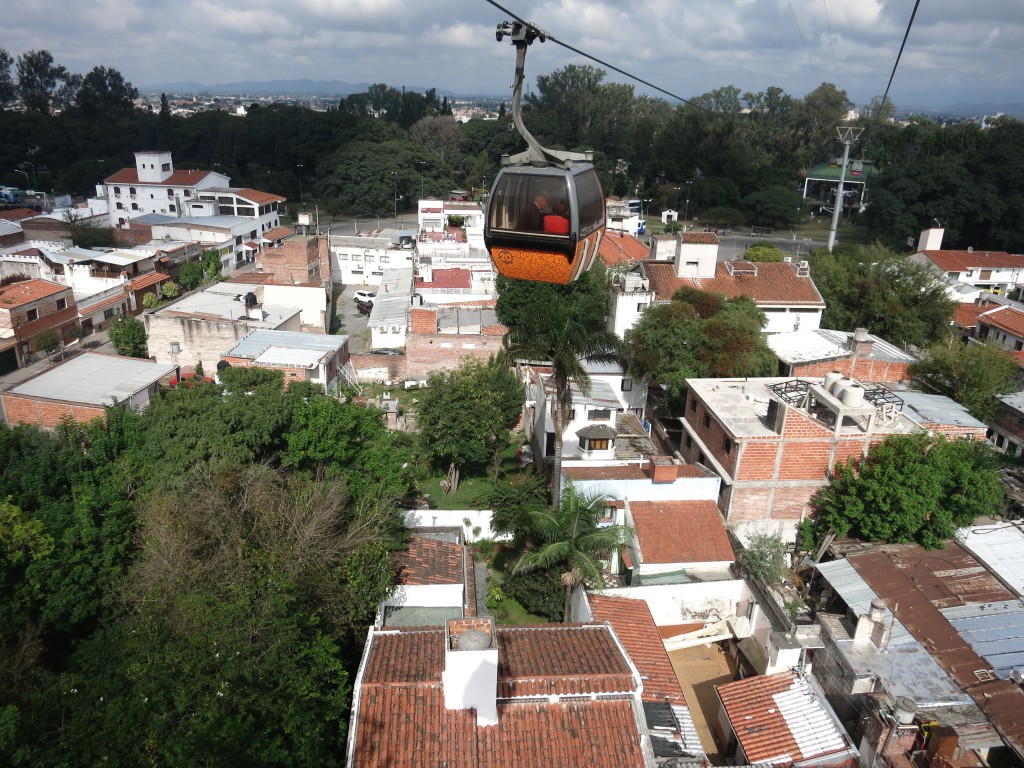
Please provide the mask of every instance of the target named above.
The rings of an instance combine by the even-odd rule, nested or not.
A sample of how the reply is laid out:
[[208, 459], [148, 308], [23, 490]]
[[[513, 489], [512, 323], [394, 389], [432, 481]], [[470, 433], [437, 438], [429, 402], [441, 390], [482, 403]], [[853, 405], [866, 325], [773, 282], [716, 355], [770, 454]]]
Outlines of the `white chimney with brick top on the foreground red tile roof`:
[[498, 725], [495, 620], [449, 618], [444, 630], [444, 709], [475, 709], [477, 726]]

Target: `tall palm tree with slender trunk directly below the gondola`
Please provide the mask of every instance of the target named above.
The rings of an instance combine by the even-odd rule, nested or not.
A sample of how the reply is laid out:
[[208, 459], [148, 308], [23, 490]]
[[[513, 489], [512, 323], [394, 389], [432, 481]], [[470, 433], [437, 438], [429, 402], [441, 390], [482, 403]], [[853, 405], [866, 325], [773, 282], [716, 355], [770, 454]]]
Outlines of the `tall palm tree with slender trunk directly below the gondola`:
[[[601, 289], [606, 293], [606, 289]], [[582, 299], [582, 300], [578, 300]], [[572, 384], [590, 396], [590, 375], [586, 361], [615, 362], [621, 358], [621, 341], [601, 325], [603, 309], [589, 297], [566, 293], [535, 305], [528, 325], [512, 328], [505, 344], [513, 359], [549, 361], [553, 369], [555, 397], [551, 420], [555, 428], [555, 456], [552, 469], [551, 506], [561, 500], [562, 433], [572, 411]], [[606, 302], [606, 299], [605, 299]]]

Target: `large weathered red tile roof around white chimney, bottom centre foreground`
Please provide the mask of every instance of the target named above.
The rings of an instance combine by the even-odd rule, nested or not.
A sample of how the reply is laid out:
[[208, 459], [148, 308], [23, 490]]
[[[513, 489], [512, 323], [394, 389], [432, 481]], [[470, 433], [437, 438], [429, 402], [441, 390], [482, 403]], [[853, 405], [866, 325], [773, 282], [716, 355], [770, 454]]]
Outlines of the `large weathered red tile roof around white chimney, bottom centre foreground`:
[[[644, 765], [631, 699], [636, 680], [607, 627], [496, 634], [498, 725], [481, 727], [474, 710], [444, 707], [444, 630], [372, 632], [355, 697], [351, 765]], [[583, 695], [555, 701], [552, 694]]]

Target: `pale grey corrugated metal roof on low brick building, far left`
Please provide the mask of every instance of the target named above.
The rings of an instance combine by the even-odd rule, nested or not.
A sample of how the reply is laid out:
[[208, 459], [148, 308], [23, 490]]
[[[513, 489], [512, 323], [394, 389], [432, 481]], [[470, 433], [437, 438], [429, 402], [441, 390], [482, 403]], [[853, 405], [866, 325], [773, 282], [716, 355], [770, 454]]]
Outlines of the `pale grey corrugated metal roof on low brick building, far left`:
[[14, 387], [11, 394], [47, 397], [67, 402], [110, 406], [132, 397], [176, 366], [135, 357], [85, 352]]

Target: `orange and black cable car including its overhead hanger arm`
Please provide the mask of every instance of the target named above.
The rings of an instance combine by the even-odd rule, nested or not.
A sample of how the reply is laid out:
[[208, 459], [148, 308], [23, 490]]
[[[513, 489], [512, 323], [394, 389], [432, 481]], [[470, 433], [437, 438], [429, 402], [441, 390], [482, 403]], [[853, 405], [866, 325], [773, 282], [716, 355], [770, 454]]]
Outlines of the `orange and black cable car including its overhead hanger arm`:
[[483, 242], [506, 278], [567, 285], [597, 258], [604, 234], [604, 193], [591, 155], [547, 150], [522, 122], [526, 47], [545, 34], [519, 22], [498, 26], [516, 47], [512, 120], [528, 148], [502, 158], [490, 188]]

